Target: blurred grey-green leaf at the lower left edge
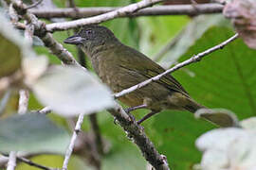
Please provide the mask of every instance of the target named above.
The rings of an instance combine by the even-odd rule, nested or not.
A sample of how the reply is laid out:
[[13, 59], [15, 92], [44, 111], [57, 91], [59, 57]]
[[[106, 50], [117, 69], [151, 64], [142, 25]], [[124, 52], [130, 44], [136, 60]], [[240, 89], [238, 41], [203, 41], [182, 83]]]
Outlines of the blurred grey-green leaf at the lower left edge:
[[0, 151], [64, 153], [69, 135], [39, 113], [0, 120]]

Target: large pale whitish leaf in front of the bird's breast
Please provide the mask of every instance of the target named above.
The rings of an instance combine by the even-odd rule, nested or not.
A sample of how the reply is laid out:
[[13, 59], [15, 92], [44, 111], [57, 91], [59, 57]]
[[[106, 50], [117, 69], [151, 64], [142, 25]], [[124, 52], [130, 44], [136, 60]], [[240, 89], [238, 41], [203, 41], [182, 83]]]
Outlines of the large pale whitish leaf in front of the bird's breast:
[[55, 66], [38, 78], [32, 90], [45, 106], [63, 116], [89, 114], [114, 106], [111, 92], [99, 80], [74, 66]]

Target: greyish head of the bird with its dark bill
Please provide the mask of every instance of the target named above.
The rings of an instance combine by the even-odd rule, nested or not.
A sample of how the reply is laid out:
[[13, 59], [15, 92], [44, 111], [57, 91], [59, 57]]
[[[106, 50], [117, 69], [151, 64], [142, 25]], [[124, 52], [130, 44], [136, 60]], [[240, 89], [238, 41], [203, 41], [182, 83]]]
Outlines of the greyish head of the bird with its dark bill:
[[90, 54], [97, 46], [107, 45], [117, 41], [113, 32], [105, 26], [92, 25], [83, 26], [77, 34], [65, 39], [64, 43], [76, 44], [86, 54]]

